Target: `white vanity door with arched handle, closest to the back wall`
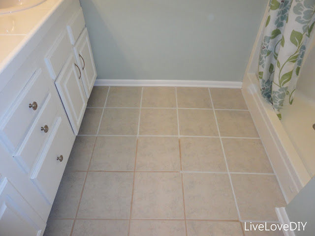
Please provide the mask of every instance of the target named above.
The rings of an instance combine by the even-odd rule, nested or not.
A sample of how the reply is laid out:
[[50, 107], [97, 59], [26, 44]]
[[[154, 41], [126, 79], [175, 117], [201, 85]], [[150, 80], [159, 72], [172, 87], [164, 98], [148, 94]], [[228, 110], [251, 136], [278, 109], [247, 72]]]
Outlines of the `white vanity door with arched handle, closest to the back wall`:
[[78, 41], [74, 45], [73, 50], [78, 65], [82, 71], [84, 89], [87, 97], [89, 98], [97, 74], [87, 28], [83, 29]]

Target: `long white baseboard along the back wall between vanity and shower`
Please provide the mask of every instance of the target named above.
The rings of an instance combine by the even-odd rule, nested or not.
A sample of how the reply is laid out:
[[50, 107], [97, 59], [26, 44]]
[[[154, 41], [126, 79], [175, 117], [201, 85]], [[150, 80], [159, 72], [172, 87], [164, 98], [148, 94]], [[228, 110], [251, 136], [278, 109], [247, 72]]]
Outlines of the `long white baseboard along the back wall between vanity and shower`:
[[98, 79], [94, 86], [139, 86], [139, 87], [210, 87], [241, 89], [242, 82], [208, 80], [105, 80]]

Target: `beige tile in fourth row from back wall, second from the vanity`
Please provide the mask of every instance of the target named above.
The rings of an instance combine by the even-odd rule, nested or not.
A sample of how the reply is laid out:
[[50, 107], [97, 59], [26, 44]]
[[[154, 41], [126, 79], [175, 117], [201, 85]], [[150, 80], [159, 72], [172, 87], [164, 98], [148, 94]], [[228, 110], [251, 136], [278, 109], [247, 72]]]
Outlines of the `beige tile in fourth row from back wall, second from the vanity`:
[[129, 219], [133, 173], [89, 172], [78, 218]]

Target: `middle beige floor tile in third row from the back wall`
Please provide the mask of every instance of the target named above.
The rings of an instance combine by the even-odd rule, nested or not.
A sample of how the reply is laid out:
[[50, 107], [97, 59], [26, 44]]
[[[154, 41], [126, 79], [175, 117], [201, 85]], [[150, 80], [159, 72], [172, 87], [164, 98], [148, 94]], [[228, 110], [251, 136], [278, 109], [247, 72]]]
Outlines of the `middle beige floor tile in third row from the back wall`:
[[139, 137], [137, 171], [180, 171], [177, 137]]

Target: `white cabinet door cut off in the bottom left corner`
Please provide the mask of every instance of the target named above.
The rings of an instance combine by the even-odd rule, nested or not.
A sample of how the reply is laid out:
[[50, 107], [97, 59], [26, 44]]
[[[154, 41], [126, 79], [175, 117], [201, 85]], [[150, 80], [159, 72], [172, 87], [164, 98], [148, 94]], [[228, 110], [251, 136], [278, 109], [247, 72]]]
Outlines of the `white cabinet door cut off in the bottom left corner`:
[[45, 222], [6, 177], [0, 177], [0, 235], [42, 236]]

